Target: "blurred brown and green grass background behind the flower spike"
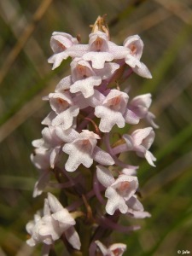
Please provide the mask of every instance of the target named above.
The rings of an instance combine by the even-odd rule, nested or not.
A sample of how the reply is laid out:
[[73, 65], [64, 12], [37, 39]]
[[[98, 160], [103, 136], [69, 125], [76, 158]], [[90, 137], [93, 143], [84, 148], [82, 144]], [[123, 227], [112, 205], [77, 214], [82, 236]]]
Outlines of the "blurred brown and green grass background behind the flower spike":
[[133, 74], [134, 93], [151, 92], [160, 129], [152, 152], [156, 168], [141, 161], [142, 202], [152, 218], [137, 220], [142, 229], [118, 234], [132, 256], [192, 253], [192, 1], [191, 0], [2, 0], [0, 1], [0, 255], [39, 255], [26, 246], [25, 225], [41, 207], [32, 199], [38, 171], [32, 166], [32, 140], [49, 113], [41, 100], [68, 72], [63, 61], [54, 72], [52, 32], [80, 34], [88, 41], [90, 24], [108, 15], [111, 38], [143, 38], [143, 62], [153, 79]]

